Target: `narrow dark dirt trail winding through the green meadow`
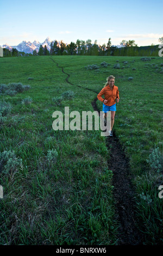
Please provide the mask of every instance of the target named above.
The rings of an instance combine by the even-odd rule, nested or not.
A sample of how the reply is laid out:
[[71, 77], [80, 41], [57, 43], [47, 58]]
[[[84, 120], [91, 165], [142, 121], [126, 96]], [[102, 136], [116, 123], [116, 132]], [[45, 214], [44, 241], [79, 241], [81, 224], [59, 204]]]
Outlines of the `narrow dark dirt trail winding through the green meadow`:
[[[51, 58], [52, 59], [52, 58]], [[53, 59], [52, 59], [53, 60]], [[68, 81], [70, 77], [64, 71], [64, 68], [58, 65], [53, 60], [62, 72], [67, 75], [66, 82], [72, 86], [78, 86]], [[82, 89], [90, 90], [93, 93], [98, 94], [94, 90], [78, 86]], [[97, 97], [92, 102], [94, 111], [98, 111], [96, 105]], [[118, 245], [142, 245], [141, 231], [137, 229], [135, 222], [135, 200], [134, 200], [134, 188], [131, 184], [131, 178], [129, 176], [129, 160], [127, 159], [118, 138], [116, 138], [115, 132], [113, 131], [113, 137], [106, 138], [106, 146], [110, 153], [110, 160], [108, 161], [108, 168], [112, 170], [113, 178], [112, 185], [114, 186], [113, 196], [115, 199], [116, 218], [119, 223], [118, 228]]]

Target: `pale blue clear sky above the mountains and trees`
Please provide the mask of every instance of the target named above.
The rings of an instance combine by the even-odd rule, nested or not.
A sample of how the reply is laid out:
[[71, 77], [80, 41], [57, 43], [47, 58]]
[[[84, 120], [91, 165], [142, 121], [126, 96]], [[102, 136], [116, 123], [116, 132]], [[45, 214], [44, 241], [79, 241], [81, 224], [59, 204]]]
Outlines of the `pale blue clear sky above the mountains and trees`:
[[0, 0], [0, 45], [23, 40], [52, 40], [69, 44], [77, 39], [120, 45], [160, 44], [163, 36], [162, 0]]

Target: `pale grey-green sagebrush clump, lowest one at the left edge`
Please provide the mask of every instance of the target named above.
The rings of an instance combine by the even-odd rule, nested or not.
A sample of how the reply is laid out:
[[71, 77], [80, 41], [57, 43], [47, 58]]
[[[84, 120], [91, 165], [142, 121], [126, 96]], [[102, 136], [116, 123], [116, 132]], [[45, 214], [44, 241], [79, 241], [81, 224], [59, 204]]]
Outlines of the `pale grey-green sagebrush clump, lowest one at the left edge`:
[[0, 152], [0, 173], [7, 174], [10, 171], [16, 170], [22, 165], [22, 159], [18, 159], [15, 151]]

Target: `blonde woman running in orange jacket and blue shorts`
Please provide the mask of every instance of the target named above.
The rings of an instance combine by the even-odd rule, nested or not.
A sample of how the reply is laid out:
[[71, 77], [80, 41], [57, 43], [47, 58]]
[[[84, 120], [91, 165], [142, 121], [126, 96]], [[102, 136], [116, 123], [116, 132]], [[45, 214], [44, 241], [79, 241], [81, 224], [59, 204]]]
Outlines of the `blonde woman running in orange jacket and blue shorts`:
[[[109, 114], [109, 111], [111, 111], [111, 131], [110, 136], [112, 136], [112, 127], [114, 125], [114, 118], [115, 118], [115, 112], [116, 112], [116, 100], [119, 102], [119, 91], [118, 87], [115, 86], [115, 77], [109, 76], [106, 78], [107, 82], [104, 86], [104, 88], [99, 92], [97, 95], [98, 100], [103, 102], [103, 117], [106, 120], [106, 117]], [[104, 95], [104, 99], [102, 97]]]

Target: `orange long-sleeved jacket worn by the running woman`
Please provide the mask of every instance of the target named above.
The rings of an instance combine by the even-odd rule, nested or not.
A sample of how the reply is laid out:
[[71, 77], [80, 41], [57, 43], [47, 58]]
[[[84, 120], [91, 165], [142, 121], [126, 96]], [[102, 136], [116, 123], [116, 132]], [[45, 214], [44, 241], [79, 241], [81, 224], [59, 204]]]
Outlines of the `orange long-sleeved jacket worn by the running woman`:
[[[102, 97], [102, 95], [104, 95], [104, 99]], [[101, 92], [99, 92], [99, 94], [97, 95], [98, 100], [100, 101], [104, 101], [104, 100], [108, 100], [108, 102], [105, 103], [106, 106], [112, 106], [116, 103], [116, 99], [120, 99], [119, 97], [119, 91], [118, 91], [118, 87], [114, 86], [112, 87], [112, 89], [110, 89], [110, 86], [106, 86], [104, 87]]]

